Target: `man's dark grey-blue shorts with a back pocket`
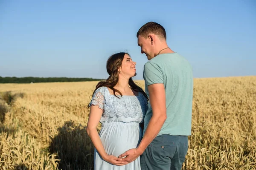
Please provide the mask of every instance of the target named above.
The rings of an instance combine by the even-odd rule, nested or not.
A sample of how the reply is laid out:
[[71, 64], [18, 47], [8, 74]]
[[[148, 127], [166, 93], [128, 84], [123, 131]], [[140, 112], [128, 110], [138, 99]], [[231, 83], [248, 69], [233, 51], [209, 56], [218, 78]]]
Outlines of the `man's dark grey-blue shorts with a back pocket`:
[[140, 156], [141, 170], [181, 170], [188, 136], [157, 136]]

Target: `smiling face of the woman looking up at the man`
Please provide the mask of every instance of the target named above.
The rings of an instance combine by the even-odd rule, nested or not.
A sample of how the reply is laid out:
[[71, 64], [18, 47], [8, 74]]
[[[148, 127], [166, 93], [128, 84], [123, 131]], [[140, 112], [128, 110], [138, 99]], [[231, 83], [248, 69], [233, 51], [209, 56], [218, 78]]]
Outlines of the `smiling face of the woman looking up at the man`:
[[119, 74], [128, 78], [136, 76], [135, 65], [136, 62], [132, 61], [128, 54], [125, 54], [124, 59], [122, 60], [122, 66], [119, 68]]

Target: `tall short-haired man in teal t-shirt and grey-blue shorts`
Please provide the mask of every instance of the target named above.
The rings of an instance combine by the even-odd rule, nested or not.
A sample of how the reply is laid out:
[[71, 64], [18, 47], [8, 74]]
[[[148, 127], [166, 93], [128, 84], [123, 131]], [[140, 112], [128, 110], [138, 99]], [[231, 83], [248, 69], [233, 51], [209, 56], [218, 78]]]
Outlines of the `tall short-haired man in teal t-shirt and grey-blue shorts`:
[[191, 135], [193, 75], [189, 62], [172, 51], [166, 42], [166, 31], [149, 22], [137, 32], [144, 65], [148, 111], [143, 139], [136, 149], [119, 156], [134, 161], [141, 155], [142, 170], [180, 170]]

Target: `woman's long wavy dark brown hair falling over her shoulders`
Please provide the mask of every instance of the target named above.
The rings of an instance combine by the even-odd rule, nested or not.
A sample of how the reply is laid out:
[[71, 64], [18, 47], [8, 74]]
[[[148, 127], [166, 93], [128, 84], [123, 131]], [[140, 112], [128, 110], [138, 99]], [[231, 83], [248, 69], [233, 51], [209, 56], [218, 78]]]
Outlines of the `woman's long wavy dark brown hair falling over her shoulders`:
[[[113, 91], [113, 94], [115, 96], [116, 96], [116, 92], [119, 93], [122, 96], [122, 93], [119, 90], [115, 89], [114, 86], [117, 84], [117, 82], [119, 80], [118, 68], [120, 68], [122, 66], [122, 60], [124, 59], [125, 54], [130, 56], [128, 53], [121, 52], [121, 53], [113, 54], [111, 57], [108, 58], [107, 72], [109, 74], [109, 77], [108, 77], [108, 79], [106, 79], [104, 81], [100, 81], [96, 85], [96, 89], [93, 91], [93, 94], [100, 87], [108, 87]], [[129, 79], [128, 83], [134, 91], [141, 92], [148, 100], [147, 94], [145, 94], [143, 89], [140, 88], [138, 85], [136, 85], [135, 82], [131, 78]], [[118, 96], [116, 96], [116, 97], [118, 97]], [[90, 107], [90, 104], [88, 105], [88, 108], [89, 107]]]

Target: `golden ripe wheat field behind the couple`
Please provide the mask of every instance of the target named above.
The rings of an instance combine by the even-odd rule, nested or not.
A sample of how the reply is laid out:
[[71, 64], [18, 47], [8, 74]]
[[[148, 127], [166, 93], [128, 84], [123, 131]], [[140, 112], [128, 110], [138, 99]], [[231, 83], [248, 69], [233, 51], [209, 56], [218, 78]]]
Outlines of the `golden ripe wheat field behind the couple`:
[[[0, 170], [93, 170], [86, 125], [96, 84], [0, 84]], [[183, 169], [256, 170], [256, 76], [194, 79]]]

